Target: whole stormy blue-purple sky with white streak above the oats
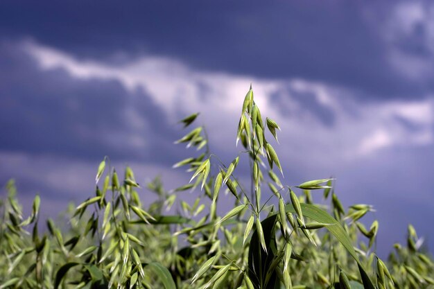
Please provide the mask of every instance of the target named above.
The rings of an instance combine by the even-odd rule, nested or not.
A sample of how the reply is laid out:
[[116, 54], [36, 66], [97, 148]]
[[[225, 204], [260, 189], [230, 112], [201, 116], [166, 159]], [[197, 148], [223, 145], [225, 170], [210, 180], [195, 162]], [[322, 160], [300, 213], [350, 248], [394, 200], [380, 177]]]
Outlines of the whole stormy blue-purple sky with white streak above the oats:
[[0, 182], [57, 213], [108, 155], [173, 189], [192, 153], [177, 120], [201, 112], [232, 161], [250, 83], [286, 184], [333, 175], [345, 205], [376, 207], [380, 249], [410, 222], [434, 248], [428, 1], [1, 1]]

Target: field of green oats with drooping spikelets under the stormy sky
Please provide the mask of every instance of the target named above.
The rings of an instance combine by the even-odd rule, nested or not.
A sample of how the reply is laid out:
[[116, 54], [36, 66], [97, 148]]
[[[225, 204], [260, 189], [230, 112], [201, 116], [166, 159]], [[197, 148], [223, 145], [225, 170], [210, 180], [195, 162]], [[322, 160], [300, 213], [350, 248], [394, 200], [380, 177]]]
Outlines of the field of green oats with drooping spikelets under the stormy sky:
[[[173, 191], [164, 179], [138, 184], [130, 168], [116, 170], [105, 157], [96, 164], [95, 194], [58, 220], [42, 220], [44, 200], [37, 196], [24, 216], [8, 182], [0, 203], [0, 289], [434, 288], [433, 259], [411, 225], [407, 243], [380, 259], [381, 224], [363, 219], [372, 206], [342, 207], [335, 179], [286, 184], [274, 149], [279, 124], [261, 115], [251, 87], [240, 109], [241, 149], [230, 164], [209, 150], [205, 128], [195, 126], [198, 114], [182, 119], [188, 132], [177, 143], [193, 155], [174, 169], [187, 168], [191, 181]], [[250, 166], [248, 184], [237, 177], [240, 162]], [[157, 200], [140, 200], [139, 189]], [[178, 195], [195, 190], [191, 203]], [[233, 208], [219, 216], [223, 201]]]

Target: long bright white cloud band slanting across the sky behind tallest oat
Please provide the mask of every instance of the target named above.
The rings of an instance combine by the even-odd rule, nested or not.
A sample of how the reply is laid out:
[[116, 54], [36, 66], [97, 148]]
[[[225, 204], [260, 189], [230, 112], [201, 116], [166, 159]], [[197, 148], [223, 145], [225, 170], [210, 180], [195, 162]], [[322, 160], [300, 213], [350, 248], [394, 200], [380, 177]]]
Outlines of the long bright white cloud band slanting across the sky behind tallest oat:
[[[73, 55], [35, 42], [26, 42], [24, 49], [43, 70], [60, 68], [76, 78], [118, 80], [130, 90], [142, 87], [168, 114], [171, 123], [177, 121], [180, 113], [204, 112], [205, 124], [212, 132], [210, 137], [214, 143], [234, 139], [241, 103], [250, 82], [263, 116], [271, 116], [281, 125], [280, 139], [289, 148], [288, 159], [310, 155], [318, 159], [317, 165], [329, 166], [336, 159], [349, 161], [380, 149], [426, 146], [434, 140], [432, 96], [422, 100], [364, 104], [349, 89], [306, 79], [263, 80], [196, 71], [182, 62], [148, 55], [115, 66], [96, 60], [78, 60]], [[315, 107], [333, 115], [333, 125], [324, 125], [309, 104], [306, 106], [297, 100], [297, 93], [313, 94]], [[281, 96], [279, 100], [273, 100], [275, 94]], [[144, 123], [139, 112], [134, 112], [133, 103], [125, 113], [135, 128], [149, 125]], [[415, 125], [417, 130], [403, 126], [397, 116]], [[144, 145], [144, 139], [139, 137], [131, 141], [137, 146]], [[306, 146], [306, 143], [312, 145]]]

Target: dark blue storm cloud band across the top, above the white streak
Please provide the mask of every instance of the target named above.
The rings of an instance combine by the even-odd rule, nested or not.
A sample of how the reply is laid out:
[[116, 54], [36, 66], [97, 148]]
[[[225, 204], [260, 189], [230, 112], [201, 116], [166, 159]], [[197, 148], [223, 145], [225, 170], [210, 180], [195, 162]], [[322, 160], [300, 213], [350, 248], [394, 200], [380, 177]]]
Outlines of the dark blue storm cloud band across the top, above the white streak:
[[[199, 69], [309, 78], [361, 89], [365, 98], [415, 97], [433, 87], [394, 71], [357, 2], [2, 1], [4, 37], [35, 37], [81, 58], [150, 53]], [[379, 5], [382, 17], [393, 2]], [[368, 8], [376, 10], [376, 6]], [[416, 37], [417, 38], [417, 37]], [[410, 39], [419, 53], [418, 39]], [[413, 45], [413, 46], [412, 46]], [[126, 54], [119, 55], [116, 51]], [[423, 52], [423, 51], [422, 51]]]

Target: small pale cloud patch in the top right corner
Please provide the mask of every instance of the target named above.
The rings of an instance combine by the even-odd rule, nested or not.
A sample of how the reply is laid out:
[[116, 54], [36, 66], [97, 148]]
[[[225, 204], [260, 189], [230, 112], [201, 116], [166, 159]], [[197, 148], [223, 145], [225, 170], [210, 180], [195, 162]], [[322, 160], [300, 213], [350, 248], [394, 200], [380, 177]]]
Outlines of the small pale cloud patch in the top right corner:
[[[375, 17], [374, 17], [375, 18]], [[434, 73], [434, 4], [397, 1], [379, 13], [373, 28], [385, 44], [395, 71], [413, 82], [426, 82]], [[380, 27], [380, 28], [379, 28]]]

